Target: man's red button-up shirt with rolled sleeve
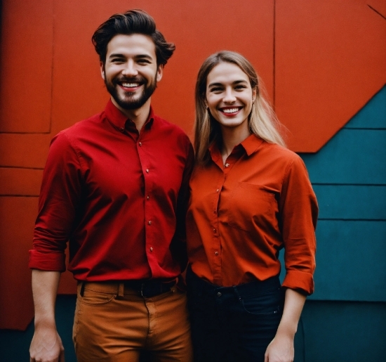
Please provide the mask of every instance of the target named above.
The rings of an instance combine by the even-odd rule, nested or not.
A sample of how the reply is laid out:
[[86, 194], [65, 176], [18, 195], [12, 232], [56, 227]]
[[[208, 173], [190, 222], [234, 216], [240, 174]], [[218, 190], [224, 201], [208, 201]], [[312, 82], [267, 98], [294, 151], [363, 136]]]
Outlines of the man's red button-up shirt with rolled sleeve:
[[193, 150], [150, 110], [140, 133], [111, 101], [53, 138], [29, 267], [87, 281], [174, 278], [186, 266]]

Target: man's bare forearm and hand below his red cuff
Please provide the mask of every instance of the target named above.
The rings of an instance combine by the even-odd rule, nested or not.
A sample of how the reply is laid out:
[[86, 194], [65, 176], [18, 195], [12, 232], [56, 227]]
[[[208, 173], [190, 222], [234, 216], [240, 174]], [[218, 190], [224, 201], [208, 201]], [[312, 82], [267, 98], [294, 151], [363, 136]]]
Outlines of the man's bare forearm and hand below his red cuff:
[[65, 362], [65, 349], [55, 324], [59, 271], [32, 270], [35, 332], [29, 347], [30, 362]]

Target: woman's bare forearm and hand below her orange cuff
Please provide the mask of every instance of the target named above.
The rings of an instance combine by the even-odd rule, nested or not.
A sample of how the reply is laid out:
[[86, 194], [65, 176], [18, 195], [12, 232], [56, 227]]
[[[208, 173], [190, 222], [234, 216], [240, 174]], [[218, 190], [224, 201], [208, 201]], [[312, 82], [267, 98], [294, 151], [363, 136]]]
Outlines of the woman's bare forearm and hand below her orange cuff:
[[283, 316], [277, 333], [265, 351], [264, 362], [293, 362], [293, 340], [305, 304], [305, 295], [292, 289], [286, 290]]

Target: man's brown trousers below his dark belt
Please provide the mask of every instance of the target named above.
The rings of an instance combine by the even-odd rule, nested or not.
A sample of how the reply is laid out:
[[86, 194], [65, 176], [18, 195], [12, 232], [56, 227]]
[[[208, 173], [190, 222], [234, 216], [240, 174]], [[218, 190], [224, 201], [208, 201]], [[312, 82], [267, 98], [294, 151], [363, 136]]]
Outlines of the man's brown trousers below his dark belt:
[[175, 286], [151, 298], [123, 283], [78, 285], [73, 340], [78, 362], [191, 362], [192, 342], [186, 293]]

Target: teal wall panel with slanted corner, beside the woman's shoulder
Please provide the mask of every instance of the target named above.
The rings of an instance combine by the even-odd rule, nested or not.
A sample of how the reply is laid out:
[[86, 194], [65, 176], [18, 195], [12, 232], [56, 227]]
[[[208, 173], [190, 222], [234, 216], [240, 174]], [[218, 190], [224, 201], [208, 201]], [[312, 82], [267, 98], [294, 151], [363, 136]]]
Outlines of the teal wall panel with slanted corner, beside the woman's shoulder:
[[386, 130], [341, 129], [318, 153], [300, 156], [312, 183], [386, 184]]

